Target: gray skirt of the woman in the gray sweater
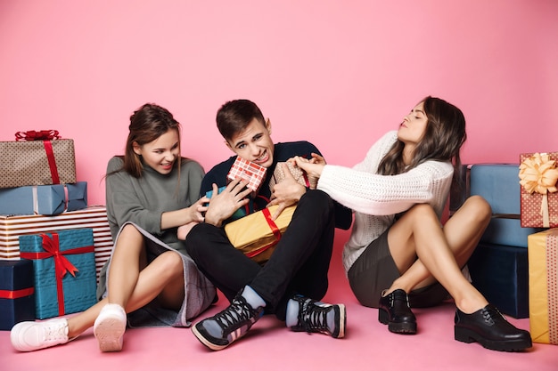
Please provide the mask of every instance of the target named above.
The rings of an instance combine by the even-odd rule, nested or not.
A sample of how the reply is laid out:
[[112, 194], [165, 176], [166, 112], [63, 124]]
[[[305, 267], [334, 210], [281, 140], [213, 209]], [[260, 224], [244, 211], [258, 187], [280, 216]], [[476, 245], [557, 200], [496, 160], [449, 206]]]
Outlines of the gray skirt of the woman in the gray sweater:
[[[160, 241], [160, 239], [154, 237], [151, 233], [143, 230], [133, 222], [126, 222], [120, 227], [119, 234], [114, 241], [114, 246], [116, 246], [120, 232], [127, 224], [134, 225], [135, 229], [144, 235], [145, 248], [147, 249], [148, 260], [150, 262], [156, 256], [166, 251], [174, 251], [176, 254], [180, 254], [185, 281], [185, 299], [182, 302], [180, 311], [176, 312], [161, 308], [156, 305], [156, 302], [151, 302], [137, 311], [128, 313], [128, 327], [190, 327], [192, 325], [190, 320], [208, 309], [209, 305], [214, 301], [217, 294], [215, 286], [198, 270], [190, 256], [176, 251], [176, 249]], [[114, 247], [112, 248], [111, 257], [112, 254], [114, 254]], [[106, 282], [110, 265], [111, 259], [104, 264], [101, 270], [99, 285], [97, 286], [98, 299], [103, 298], [107, 294]]]

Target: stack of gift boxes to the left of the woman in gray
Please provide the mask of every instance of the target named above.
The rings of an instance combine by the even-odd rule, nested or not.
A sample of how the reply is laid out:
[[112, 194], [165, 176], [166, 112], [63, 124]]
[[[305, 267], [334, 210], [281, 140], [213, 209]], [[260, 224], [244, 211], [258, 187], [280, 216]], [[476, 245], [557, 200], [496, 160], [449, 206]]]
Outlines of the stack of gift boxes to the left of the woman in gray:
[[104, 206], [87, 206], [74, 142], [56, 131], [0, 142], [0, 329], [84, 311], [111, 254]]

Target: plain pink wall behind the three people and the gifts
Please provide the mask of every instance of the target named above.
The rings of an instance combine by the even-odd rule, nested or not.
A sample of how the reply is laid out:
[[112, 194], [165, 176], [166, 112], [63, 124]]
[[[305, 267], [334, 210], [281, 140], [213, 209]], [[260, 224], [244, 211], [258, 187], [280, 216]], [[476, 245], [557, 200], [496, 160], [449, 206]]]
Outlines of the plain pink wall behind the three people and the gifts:
[[464, 110], [464, 162], [558, 150], [558, 2], [0, 1], [0, 141], [57, 129], [89, 204], [144, 102], [183, 124], [206, 170], [230, 156], [215, 127], [248, 98], [275, 141], [354, 165], [425, 95]]

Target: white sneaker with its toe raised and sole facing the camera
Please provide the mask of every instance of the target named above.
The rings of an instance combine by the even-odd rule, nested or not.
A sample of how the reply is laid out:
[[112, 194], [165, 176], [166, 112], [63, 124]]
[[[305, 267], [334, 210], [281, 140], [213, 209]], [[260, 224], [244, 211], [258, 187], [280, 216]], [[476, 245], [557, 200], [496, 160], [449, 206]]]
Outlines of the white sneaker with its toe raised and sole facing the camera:
[[106, 304], [93, 326], [101, 351], [121, 351], [126, 331], [126, 311], [119, 304]]

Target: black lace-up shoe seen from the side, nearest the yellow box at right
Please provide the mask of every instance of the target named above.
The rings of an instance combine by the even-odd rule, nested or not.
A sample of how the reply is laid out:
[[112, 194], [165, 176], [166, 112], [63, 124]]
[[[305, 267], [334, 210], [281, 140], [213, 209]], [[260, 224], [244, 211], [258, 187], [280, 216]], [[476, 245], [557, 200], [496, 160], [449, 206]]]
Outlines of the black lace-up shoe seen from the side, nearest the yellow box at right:
[[478, 342], [493, 351], [522, 351], [532, 346], [529, 332], [514, 327], [491, 304], [471, 314], [457, 309], [455, 340]]

